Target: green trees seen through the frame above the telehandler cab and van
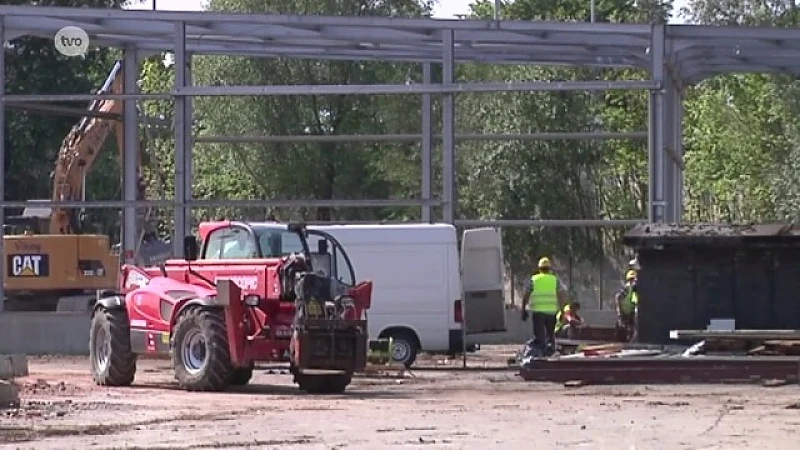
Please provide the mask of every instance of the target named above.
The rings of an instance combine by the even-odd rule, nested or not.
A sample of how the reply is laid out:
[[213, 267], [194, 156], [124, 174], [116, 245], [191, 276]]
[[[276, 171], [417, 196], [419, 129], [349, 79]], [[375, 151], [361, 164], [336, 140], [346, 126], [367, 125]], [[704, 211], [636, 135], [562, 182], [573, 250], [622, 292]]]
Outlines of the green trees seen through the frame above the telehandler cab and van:
[[[422, 16], [430, 4], [380, 2], [212, 0], [215, 11], [333, 15]], [[198, 84], [370, 84], [419, 79], [418, 65], [199, 57]], [[419, 119], [413, 97], [298, 96], [210, 98], [196, 102], [206, 135], [347, 135], [409, 133]], [[199, 198], [341, 199], [419, 196], [418, 144], [263, 143], [197, 145]], [[414, 180], [412, 177], [416, 176]], [[312, 220], [413, 217], [416, 210], [382, 211], [250, 208], [236, 214]], [[211, 212], [220, 214], [220, 211]]]

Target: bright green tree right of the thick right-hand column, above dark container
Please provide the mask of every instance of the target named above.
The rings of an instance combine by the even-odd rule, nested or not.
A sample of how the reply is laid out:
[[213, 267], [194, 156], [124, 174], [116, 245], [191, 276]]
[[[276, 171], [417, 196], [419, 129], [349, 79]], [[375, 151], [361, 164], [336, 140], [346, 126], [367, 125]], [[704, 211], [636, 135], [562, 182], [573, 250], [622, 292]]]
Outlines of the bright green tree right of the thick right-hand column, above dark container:
[[[690, 22], [796, 27], [794, 2], [695, 0]], [[755, 68], [754, 68], [755, 69]], [[751, 222], [797, 217], [798, 83], [787, 76], [727, 74], [689, 90], [684, 137], [686, 218]]]

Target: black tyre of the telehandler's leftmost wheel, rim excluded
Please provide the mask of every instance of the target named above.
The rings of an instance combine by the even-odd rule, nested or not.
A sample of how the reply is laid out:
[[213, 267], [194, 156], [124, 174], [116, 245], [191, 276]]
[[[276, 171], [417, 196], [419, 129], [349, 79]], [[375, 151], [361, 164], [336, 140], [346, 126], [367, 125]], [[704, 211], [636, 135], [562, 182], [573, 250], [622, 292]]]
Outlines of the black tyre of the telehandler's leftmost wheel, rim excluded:
[[[111, 354], [105, 372], [99, 372], [92, 355], [92, 374], [95, 382], [100, 386], [130, 386], [136, 377], [137, 358], [131, 350], [131, 331], [127, 312], [122, 309], [100, 308], [92, 317], [92, 336], [96, 321], [100, 322], [100, 326], [108, 324]], [[90, 340], [90, 352], [94, 352], [94, 337]]]

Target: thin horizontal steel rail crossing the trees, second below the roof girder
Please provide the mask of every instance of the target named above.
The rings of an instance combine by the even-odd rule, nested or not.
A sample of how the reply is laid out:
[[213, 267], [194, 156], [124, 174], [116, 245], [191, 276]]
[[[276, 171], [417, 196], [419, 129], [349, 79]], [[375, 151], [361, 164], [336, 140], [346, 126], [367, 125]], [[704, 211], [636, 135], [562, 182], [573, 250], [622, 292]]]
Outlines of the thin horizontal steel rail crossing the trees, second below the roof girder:
[[[423, 97], [430, 94], [423, 94]], [[423, 116], [425, 113], [425, 101], [423, 99]], [[424, 120], [424, 119], [423, 119]], [[424, 121], [423, 121], [424, 124]], [[425, 145], [425, 128], [422, 135], [419, 134], [360, 134], [360, 135], [250, 135], [250, 136], [219, 136], [219, 135], [200, 135], [195, 137], [195, 143], [292, 143], [292, 142], [419, 142]], [[640, 140], [647, 139], [646, 131], [611, 131], [611, 132], [543, 132], [543, 133], [462, 133], [456, 134], [456, 142], [462, 141], [557, 141], [557, 140]], [[431, 136], [431, 140], [442, 140], [441, 134]], [[432, 144], [431, 144], [432, 145]], [[424, 153], [423, 147], [423, 153]]]

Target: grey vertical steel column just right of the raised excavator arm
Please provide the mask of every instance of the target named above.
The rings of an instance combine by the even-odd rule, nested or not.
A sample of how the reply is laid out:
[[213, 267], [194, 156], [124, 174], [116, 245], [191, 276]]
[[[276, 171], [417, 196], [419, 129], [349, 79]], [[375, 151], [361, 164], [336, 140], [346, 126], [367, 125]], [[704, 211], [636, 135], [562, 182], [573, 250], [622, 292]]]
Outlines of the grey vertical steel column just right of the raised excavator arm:
[[[135, 94], [139, 90], [139, 61], [136, 49], [126, 48], [123, 66], [123, 82], [126, 94]], [[139, 118], [136, 112], [136, 100], [124, 101], [123, 114], [123, 149], [122, 149], [122, 200], [135, 202], [139, 200]], [[136, 244], [139, 231], [137, 220], [139, 211], [135, 206], [126, 204], [122, 208], [122, 255], [125, 263], [133, 264], [136, 258]]]

